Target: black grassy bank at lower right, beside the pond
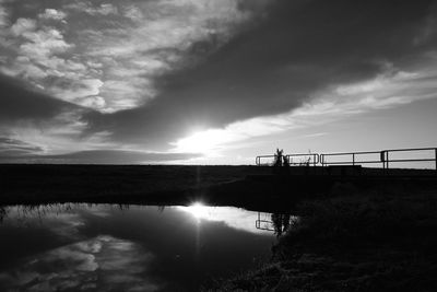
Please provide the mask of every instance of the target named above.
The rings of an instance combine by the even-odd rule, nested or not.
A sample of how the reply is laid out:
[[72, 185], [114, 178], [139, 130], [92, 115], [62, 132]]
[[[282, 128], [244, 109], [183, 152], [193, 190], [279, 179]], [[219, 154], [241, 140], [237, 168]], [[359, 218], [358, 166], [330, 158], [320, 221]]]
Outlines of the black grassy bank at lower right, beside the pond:
[[297, 212], [271, 262], [209, 291], [437, 291], [435, 191], [356, 191]]

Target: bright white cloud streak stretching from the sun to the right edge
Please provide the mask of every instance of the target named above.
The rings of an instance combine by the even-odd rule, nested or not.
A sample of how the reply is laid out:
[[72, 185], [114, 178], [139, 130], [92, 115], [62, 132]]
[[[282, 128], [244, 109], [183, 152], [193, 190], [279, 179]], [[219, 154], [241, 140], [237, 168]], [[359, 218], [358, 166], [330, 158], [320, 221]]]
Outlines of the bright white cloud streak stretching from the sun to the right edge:
[[222, 129], [199, 131], [172, 144], [175, 147], [174, 151], [198, 148], [199, 152], [217, 155], [229, 150], [231, 145], [238, 147], [243, 141], [257, 137], [437, 98], [436, 65], [437, 59], [428, 63], [427, 69], [422, 68], [418, 72], [388, 72], [371, 80], [333, 86], [288, 113], [232, 122]]

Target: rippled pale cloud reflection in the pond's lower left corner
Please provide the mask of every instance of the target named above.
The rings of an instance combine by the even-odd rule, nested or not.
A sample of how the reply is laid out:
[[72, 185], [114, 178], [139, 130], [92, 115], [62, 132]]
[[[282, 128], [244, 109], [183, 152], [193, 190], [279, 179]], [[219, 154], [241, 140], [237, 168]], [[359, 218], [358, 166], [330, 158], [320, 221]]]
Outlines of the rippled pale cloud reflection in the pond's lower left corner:
[[101, 235], [37, 255], [0, 281], [8, 290], [156, 291], [160, 284], [144, 277], [152, 259], [135, 243]]

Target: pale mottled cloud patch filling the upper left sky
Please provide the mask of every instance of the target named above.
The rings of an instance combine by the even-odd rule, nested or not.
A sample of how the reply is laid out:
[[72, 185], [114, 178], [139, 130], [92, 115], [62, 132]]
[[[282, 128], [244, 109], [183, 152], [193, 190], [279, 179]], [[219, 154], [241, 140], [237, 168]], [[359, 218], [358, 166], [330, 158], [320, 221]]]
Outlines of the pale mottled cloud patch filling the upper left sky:
[[[14, 7], [19, 17], [1, 71], [105, 113], [146, 104], [158, 93], [156, 79], [203, 60], [256, 12], [233, 0], [74, 1], [35, 4], [27, 13]], [[83, 80], [102, 84], [78, 92], [78, 84], [87, 86]], [[58, 86], [66, 82], [71, 86]], [[90, 102], [92, 95], [99, 102]]]

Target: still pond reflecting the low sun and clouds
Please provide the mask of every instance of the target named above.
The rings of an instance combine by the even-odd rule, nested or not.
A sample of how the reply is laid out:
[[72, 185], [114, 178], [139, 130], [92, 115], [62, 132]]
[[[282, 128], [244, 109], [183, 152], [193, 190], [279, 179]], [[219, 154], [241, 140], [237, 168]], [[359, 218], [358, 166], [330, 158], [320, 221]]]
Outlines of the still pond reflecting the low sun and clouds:
[[268, 260], [276, 241], [269, 214], [229, 207], [8, 207], [0, 219], [0, 291], [197, 291]]

